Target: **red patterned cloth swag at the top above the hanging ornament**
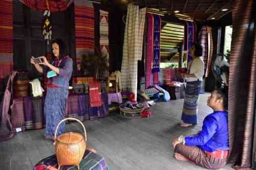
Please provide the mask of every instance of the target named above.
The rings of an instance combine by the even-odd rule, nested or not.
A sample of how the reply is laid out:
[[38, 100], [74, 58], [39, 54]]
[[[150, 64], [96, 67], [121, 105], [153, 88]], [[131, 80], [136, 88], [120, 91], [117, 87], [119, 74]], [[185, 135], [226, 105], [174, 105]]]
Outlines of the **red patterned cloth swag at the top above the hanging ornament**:
[[45, 11], [49, 10], [51, 12], [65, 11], [74, 0], [19, 0], [24, 5], [33, 8], [35, 10]]

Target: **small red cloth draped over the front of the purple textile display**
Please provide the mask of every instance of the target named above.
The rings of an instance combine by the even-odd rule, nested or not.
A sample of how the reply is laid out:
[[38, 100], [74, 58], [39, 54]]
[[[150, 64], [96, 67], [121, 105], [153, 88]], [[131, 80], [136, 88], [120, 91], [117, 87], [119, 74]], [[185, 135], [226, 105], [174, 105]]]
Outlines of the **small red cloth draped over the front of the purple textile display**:
[[90, 104], [91, 104], [91, 107], [98, 107], [98, 106], [101, 106], [102, 104], [99, 82], [90, 83]]

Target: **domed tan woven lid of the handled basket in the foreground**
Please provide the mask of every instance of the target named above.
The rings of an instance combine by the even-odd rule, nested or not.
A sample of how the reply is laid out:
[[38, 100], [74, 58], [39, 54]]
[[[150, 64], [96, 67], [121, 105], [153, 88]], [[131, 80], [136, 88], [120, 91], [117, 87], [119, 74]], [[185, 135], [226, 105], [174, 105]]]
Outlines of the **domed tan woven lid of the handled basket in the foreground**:
[[80, 133], [67, 132], [59, 135], [57, 140], [61, 143], [74, 144], [83, 140], [83, 136]]

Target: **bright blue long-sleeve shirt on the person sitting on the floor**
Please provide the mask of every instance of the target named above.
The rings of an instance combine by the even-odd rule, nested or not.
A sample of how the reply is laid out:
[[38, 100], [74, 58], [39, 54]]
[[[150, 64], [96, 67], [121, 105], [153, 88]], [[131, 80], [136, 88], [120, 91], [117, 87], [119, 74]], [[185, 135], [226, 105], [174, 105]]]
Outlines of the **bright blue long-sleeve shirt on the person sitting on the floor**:
[[229, 150], [227, 112], [216, 111], [207, 115], [199, 135], [185, 137], [185, 143], [188, 146], [196, 145], [208, 152]]

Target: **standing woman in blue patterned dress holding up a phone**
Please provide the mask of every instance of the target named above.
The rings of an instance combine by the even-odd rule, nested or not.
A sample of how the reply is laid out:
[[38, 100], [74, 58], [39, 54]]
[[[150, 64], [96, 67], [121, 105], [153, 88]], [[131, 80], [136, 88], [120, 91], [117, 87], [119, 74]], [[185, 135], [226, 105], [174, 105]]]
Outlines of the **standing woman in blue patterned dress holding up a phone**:
[[[54, 139], [55, 129], [63, 118], [65, 118], [66, 100], [68, 98], [69, 80], [73, 71], [73, 60], [66, 55], [66, 45], [63, 40], [56, 39], [51, 43], [52, 60], [36, 64], [31, 58], [30, 63], [36, 70], [47, 75], [47, 94], [45, 100], [44, 114], [46, 118], [45, 137]], [[42, 65], [42, 66], [41, 66]], [[60, 124], [57, 136], [65, 132], [65, 123]]]

